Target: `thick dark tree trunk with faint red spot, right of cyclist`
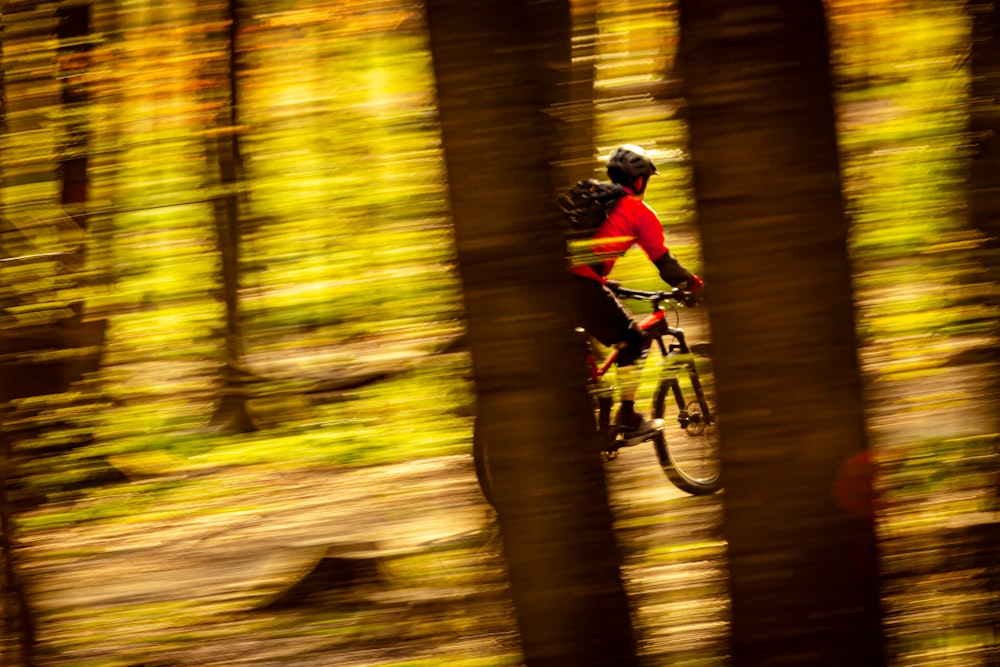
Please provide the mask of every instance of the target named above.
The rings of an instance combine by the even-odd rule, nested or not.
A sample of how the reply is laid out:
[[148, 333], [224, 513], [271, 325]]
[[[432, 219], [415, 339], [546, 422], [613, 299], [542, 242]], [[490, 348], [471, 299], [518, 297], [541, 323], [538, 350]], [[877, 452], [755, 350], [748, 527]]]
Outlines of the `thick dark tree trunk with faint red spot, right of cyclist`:
[[874, 522], [849, 511], [871, 480], [823, 3], [680, 11], [733, 664], [882, 665]]

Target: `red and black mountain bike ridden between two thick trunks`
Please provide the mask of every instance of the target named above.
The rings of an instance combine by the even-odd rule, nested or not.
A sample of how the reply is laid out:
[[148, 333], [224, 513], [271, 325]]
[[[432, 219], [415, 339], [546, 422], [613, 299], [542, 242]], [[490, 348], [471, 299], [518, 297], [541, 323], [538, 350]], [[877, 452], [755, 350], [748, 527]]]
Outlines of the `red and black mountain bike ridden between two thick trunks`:
[[[629, 438], [612, 422], [615, 387], [607, 375], [615, 364], [618, 350], [611, 348], [602, 356], [600, 347], [586, 331], [577, 329], [587, 346], [587, 387], [594, 404], [605, 462], [616, 459], [626, 447], [652, 442], [660, 467], [674, 486], [692, 495], [715, 493], [722, 488], [722, 478], [711, 359], [706, 354], [707, 345], [692, 349], [684, 330], [667, 322], [669, 313], [676, 313], [691, 303], [692, 295], [680, 289], [669, 292], [634, 290], [612, 281], [608, 281], [608, 287], [622, 299], [650, 304], [651, 310], [639, 320], [639, 328], [650, 344], [645, 363], [648, 365], [650, 357], [658, 352], [654, 362], [658, 369], [646, 368], [642, 376], [653, 376], [652, 417], [661, 423], [645, 437]], [[667, 425], [668, 412], [672, 426]], [[478, 428], [473, 433], [472, 455], [479, 486], [487, 501], [493, 504], [489, 446]]]

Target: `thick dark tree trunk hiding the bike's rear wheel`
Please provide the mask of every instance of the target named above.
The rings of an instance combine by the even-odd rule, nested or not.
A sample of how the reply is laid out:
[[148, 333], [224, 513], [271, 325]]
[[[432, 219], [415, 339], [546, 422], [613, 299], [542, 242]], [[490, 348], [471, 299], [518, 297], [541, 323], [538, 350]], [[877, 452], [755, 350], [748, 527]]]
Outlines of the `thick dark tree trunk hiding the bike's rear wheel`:
[[427, 3], [479, 426], [526, 664], [632, 665], [553, 193], [568, 0]]

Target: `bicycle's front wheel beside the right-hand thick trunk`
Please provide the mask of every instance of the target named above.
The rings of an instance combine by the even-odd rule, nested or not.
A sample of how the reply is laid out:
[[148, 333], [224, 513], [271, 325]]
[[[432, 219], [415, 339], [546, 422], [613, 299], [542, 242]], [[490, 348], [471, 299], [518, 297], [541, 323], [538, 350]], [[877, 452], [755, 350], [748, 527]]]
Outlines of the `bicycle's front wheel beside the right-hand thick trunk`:
[[[685, 406], [686, 417], [679, 411], [667, 415], [667, 399], [671, 395], [669, 380], [661, 380], [653, 394], [653, 416], [667, 422], [664, 432], [653, 441], [660, 467], [674, 486], [696, 496], [709, 495], [722, 488], [715, 401], [710, 375], [705, 379], [709, 381], [702, 382], [699, 371], [690, 370], [688, 380], [695, 400]], [[668, 438], [667, 433], [671, 437]]]

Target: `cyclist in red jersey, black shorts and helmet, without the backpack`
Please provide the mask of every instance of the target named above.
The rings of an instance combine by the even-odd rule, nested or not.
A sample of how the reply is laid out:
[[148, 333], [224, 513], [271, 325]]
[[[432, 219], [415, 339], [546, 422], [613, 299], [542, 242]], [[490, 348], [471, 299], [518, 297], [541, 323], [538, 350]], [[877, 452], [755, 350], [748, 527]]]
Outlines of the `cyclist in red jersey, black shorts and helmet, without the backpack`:
[[617, 258], [638, 245], [672, 287], [697, 292], [703, 283], [667, 248], [660, 219], [643, 201], [649, 178], [659, 173], [646, 151], [631, 144], [619, 146], [608, 158], [607, 172], [612, 182], [624, 188], [625, 196], [593, 234], [597, 242], [590, 249], [599, 261], [572, 265], [570, 283], [579, 325], [603, 345], [619, 348], [620, 408], [615, 426], [624, 431], [626, 441], [636, 441], [660, 428], [660, 420], [647, 420], [635, 411], [640, 362], [649, 346], [628, 308], [607, 287], [607, 276]]

